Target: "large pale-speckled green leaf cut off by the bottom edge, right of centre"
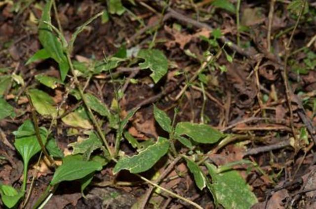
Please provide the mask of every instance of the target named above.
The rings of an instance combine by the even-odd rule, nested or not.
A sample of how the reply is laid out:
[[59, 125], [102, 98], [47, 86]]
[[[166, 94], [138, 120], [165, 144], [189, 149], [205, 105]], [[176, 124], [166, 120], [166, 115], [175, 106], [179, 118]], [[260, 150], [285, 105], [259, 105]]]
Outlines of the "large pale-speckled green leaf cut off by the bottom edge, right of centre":
[[205, 164], [212, 177], [213, 192], [224, 208], [249, 209], [258, 202], [249, 185], [236, 170], [218, 173], [211, 164]]

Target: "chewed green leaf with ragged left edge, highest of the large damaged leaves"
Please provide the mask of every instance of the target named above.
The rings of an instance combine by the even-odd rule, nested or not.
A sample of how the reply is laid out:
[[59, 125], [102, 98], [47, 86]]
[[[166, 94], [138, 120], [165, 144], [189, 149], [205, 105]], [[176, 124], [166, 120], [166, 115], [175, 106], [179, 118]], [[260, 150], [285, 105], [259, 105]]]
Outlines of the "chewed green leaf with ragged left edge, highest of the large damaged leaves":
[[156, 84], [167, 73], [168, 60], [158, 49], [141, 49], [137, 56], [145, 59], [145, 62], [140, 63], [139, 67], [140, 69], [149, 68], [153, 72], [150, 77]]

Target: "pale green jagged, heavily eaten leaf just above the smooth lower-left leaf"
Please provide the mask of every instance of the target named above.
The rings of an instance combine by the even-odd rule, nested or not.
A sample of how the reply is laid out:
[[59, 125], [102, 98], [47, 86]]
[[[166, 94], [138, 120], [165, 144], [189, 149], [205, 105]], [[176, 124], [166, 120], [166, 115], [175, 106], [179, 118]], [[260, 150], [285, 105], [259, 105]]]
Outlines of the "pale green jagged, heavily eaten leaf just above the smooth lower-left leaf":
[[89, 138], [81, 141], [81, 142], [73, 142], [68, 145], [69, 147], [73, 147], [73, 155], [83, 154], [83, 160], [89, 160], [91, 153], [102, 147], [102, 142], [99, 137], [91, 131], [89, 134]]

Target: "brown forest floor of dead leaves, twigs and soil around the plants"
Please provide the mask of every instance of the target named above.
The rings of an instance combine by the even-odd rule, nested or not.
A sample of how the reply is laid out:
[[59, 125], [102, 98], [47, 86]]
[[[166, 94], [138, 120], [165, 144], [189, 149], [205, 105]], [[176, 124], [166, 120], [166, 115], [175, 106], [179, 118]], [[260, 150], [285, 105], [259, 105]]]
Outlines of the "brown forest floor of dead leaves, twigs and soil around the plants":
[[[122, 116], [140, 108], [126, 126], [138, 142], [168, 136], [155, 122], [153, 104], [171, 119], [176, 108], [175, 123], [204, 123], [234, 134], [230, 141], [203, 145], [198, 152], [208, 155], [209, 161], [217, 166], [240, 160], [256, 165], [249, 169], [246, 165], [234, 166], [258, 200], [253, 208], [316, 208], [316, 2], [308, 0], [308, 11], [303, 12], [297, 25], [299, 14], [289, 8], [291, 1], [287, 0], [241, 1], [238, 21], [236, 13], [213, 4], [213, 0], [169, 0], [167, 5], [163, 2], [122, 0], [122, 14], [109, 12], [108, 19], [97, 18], [79, 34], [72, 59], [103, 60], [116, 54], [121, 46], [130, 53], [152, 47], [168, 59], [167, 74], [155, 84], [151, 71], [140, 70], [138, 61], [132, 59], [120, 62], [111, 71], [78, 77], [84, 91], [111, 107], [117, 96], [115, 92], [120, 89]], [[237, 0], [228, 2], [236, 8]], [[90, 17], [109, 11], [106, 0], [56, 1], [56, 5], [66, 40]], [[53, 89], [35, 79], [37, 75], [61, 78], [53, 59], [25, 65], [42, 47], [38, 20], [43, 6], [43, 0], [0, 2], [0, 97], [15, 112], [15, 116], [0, 120], [0, 181], [15, 188], [23, 181], [23, 162], [13, 145], [13, 131], [27, 119], [32, 120], [26, 89], [37, 88], [48, 93], [66, 113], [82, 106], [82, 101], [69, 93], [74, 85], [70, 73], [64, 84]], [[52, 24], [58, 25], [53, 12]], [[217, 39], [212, 34], [214, 30], [221, 33]], [[216, 56], [216, 61], [205, 66], [198, 78], [191, 81], [205, 63], [207, 53]], [[5, 83], [6, 75], [17, 77], [12, 76]], [[188, 88], [180, 94], [185, 87]], [[39, 125], [48, 129], [51, 119], [40, 114], [37, 117]], [[102, 122], [112, 147], [115, 133], [106, 120]], [[51, 131], [61, 150], [70, 153], [69, 144], [83, 137], [85, 128], [58, 119]], [[175, 146], [179, 152], [188, 152], [180, 143]], [[129, 156], [136, 153], [126, 140], [122, 141], [120, 152]], [[28, 170], [28, 189], [32, 178], [36, 178], [27, 209], [34, 206], [54, 173], [45, 161], [38, 164], [39, 155], [36, 156]], [[155, 168], [141, 174], [155, 180], [154, 176], [163, 172], [168, 159], [164, 156]], [[202, 208], [214, 208], [209, 191], [197, 188], [184, 162], [179, 161], [159, 185]], [[126, 170], [114, 175], [114, 166], [111, 162], [95, 173], [84, 190], [85, 197], [77, 181], [62, 182], [44, 208], [142, 208], [150, 186]], [[206, 168], [203, 171], [207, 172]], [[18, 207], [22, 208], [22, 204]], [[146, 208], [193, 206], [156, 191], [147, 200]]]

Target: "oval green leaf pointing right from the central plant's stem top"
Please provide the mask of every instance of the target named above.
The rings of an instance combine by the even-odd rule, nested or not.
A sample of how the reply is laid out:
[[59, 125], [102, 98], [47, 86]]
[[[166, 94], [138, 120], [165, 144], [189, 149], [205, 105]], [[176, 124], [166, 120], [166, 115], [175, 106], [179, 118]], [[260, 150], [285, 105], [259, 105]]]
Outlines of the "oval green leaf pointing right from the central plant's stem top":
[[177, 135], [187, 135], [198, 143], [215, 143], [220, 140], [224, 134], [209, 125], [193, 124], [190, 122], [181, 122], [176, 126]]

